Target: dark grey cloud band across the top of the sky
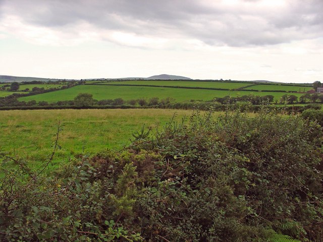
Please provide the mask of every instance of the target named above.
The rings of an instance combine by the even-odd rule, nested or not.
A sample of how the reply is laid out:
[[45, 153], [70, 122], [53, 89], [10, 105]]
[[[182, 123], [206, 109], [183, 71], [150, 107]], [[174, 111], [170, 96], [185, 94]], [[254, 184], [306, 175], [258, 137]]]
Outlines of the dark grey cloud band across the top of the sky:
[[209, 45], [230, 46], [273, 45], [323, 36], [323, 1], [285, 2], [286, 6], [266, 9], [259, 5], [261, 0], [241, 0], [237, 6], [225, 6], [219, 0], [8, 0], [0, 2], [0, 21], [12, 14], [26, 23], [62, 31], [86, 22], [140, 36], [194, 38]]

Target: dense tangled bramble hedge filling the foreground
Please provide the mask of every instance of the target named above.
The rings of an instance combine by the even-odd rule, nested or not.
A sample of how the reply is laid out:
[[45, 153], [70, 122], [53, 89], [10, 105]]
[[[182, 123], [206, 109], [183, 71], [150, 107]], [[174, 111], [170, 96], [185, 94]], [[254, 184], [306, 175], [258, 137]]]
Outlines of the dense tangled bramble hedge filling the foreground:
[[[321, 126], [196, 111], [54, 174], [2, 154], [1, 241], [321, 241]], [[142, 134], [142, 135], [140, 135]]]

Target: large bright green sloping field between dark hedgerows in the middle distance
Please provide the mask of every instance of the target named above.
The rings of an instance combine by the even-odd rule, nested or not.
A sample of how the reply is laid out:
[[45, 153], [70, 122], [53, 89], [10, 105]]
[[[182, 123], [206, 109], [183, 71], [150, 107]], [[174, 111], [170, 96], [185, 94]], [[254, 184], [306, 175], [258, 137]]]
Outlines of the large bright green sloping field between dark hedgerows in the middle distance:
[[[79, 93], [93, 94], [93, 98], [97, 100], [123, 98], [124, 100], [138, 99], [141, 97], [151, 98], [171, 97], [176, 101], [194, 100], [212, 100], [214, 97], [243, 96], [254, 94], [259, 96], [274, 95], [276, 99], [286, 93], [279, 92], [250, 92], [250, 91], [221, 91], [221, 90], [203, 90], [203, 89], [182, 89], [182, 88], [161, 88], [161, 87], [131, 87], [131, 86], [95, 86], [81, 85], [72, 88], [59, 90], [55, 92], [42, 93], [27, 97], [19, 98], [20, 101], [47, 101], [57, 102], [73, 100]], [[301, 93], [295, 93], [296, 96], [301, 96]]]

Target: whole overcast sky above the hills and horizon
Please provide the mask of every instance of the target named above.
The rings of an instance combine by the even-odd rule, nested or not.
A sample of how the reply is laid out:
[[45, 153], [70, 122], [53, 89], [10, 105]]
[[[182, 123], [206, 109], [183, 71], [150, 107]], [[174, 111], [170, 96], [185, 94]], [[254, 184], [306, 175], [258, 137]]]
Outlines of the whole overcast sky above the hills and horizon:
[[0, 75], [323, 81], [323, 0], [0, 0]]

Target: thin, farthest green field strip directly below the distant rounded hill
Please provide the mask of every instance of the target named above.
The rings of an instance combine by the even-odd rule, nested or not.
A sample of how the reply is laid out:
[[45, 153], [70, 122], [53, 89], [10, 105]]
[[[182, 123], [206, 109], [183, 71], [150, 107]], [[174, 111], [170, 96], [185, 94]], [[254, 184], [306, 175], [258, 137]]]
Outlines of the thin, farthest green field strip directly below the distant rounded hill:
[[205, 88], [222, 88], [222, 89], [237, 89], [249, 86], [252, 83], [239, 83], [239, 82], [194, 82], [194, 81], [121, 81], [121, 82], [103, 82], [98, 84], [109, 85], [155, 85], [155, 86], [179, 86], [179, 87], [205, 87]]

